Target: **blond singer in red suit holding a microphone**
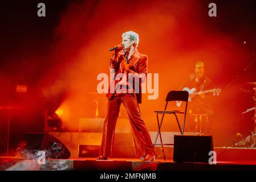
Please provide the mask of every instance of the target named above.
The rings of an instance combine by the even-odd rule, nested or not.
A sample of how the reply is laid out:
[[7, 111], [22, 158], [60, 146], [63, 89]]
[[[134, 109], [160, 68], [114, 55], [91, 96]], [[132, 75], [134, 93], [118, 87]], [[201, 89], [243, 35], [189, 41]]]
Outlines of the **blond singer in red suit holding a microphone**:
[[[132, 75], [135, 78], [139, 78], [135, 80], [139, 80], [141, 86], [141, 82], [145, 81], [148, 72], [148, 57], [137, 50], [139, 35], [136, 32], [124, 32], [122, 38], [123, 42], [121, 46], [117, 46], [119, 48], [115, 48], [115, 53], [111, 57], [109, 67], [115, 70], [115, 75], [117, 73], [124, 73], [124, 75]], [[137, 158], [143, 161], [155, 160], [157, 155], [148, 129], [141, 118], [139, 108], [141, 92], [136, 94], [133, 85], [128, 80], [121, 85], [120, 81], [115, 81], [115, 88], [118, 88], [115, 89], [117, 90], [115, 93], [107, 93], [107, 115], [104, 120], [103, 137], [97, 160], [107, 160], [111, 156], [116, 121], [121, 103], [123, 103], [128, 113], [132, 126]]]

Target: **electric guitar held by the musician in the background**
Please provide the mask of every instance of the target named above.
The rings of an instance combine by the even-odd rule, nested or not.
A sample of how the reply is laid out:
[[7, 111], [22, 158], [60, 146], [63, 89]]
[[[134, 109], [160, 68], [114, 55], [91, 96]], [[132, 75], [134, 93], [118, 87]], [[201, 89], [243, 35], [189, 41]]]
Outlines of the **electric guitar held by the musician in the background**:
[[[213, 93], [213, 96], [218, 96], [221, 93], [221, 88], [214, 88], [214, 89], [202, 90], [202, 91], [196, 92], [197, 90], [196, 88], [189, 89], [188, 87], [184, 87], [182, 90], [187, 91], [189, 93], [188, 101], [191, 101], [192, 97], [199, 96], [201, 94]], [[180, 107], [181, 101], [177, 101], [176, 105]]]

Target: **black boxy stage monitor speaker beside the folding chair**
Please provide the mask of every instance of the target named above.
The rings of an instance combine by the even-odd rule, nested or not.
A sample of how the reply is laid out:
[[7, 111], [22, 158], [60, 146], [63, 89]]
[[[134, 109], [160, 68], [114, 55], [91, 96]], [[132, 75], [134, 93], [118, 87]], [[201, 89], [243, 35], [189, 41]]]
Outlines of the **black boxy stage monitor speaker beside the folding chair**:
[[174, 162], [208, 163], [210, 151], [213, 151], [212, 136], [174, 135]]

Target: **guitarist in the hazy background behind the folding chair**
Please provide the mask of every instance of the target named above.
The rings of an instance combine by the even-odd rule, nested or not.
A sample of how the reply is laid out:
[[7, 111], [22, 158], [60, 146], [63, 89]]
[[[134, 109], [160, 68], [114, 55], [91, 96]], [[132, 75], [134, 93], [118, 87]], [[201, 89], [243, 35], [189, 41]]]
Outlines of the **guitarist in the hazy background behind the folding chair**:
[[[185, 87], [189, 89], [196, 89], [196, 92], [208, 90], [211, 88], [212, 80], [205, 76], [205, 64], [198, 61], [194, 68], [194, 73], [190, 74], [188, 78], [181, 85], [180, 90]], [[213, 115], [212, 105], [209, 103], [209, 97], [206, 94], [198, 94], [196, 96], [190, 95], [192, 102], [189, 102], [188, 111], [190, 114], [207, 114]], [[190, 118], [190, 121], [192, 118]], [[192, 123], [190, 123], [192, 124]], [[193, 131], [193, 126], [190, 126], [190, 131]]]

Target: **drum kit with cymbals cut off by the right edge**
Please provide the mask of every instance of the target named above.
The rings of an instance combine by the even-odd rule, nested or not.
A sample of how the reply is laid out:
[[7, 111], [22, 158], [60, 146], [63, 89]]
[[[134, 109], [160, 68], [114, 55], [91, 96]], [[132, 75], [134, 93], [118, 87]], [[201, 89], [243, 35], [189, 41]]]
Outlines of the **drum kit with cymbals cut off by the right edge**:
[[249, 96], [252, 96], [254, 100], [254, 107], [251, 107], [245, 111], [242, 112], [242, 114], [249, 113], [251, 111], [254, 111], [253, 120], [254, 120], [254, 126], [253, 130], [251, 130], [251, 133], [248, 137], [241, 140], [240, 142], [235, 143], [235, 146], [237, 147], [252, 147], [256, 148], [256, 82], [247, 82], [247, 84], [253, 85], [253, 90], [242, 90], [242, 92], [245, 92], [249, 94]]

